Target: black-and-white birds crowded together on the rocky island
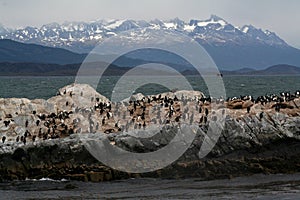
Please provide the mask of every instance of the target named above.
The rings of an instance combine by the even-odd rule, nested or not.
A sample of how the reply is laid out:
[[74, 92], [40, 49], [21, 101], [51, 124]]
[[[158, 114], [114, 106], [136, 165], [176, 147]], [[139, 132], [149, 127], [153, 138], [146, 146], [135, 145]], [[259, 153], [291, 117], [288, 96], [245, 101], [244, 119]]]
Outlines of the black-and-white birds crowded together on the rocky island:
[[[71, 98], [75, 95], [72, 91], [58, 95], [69, 95]], [[81, 92], [81, 96], [83, 93]], [[210, 114], [210, 104], [217, 104], [230, 101], [251, 101], [254, 104], [265, 105], [274, 103], [275, 111], [289, 108], [286, 102], [291, 102], [300, 97], [300, 91], [295, 93], [283, 92], [280, 95], [264, 95], [258, 98], [252, 96], [240, 96], [228, 98], [226, 101], [221, 99], [213, 99], [210, 97], [200, 97], [188, 99], [184, 96], [176, 95], [162, 96], [145, 96], [140, 100], [130, 100], [129, 102], [115, 103], [102, 102], [99, 98], [91, 98], [94, 104], [92, 108], [79, 108], [69, 105], [66, 101], [65, 105], [70, 109], [58, 111], [57, 113], [37, 113], [32, 111], [29, 113], [33, 116], [34, 121], [26, 120], [24, 123], [25, 132], [23, 135], [15, 137], [16, 142], [26, 144], [28, 140], [35, 142], [37, 139], [47, 140], [61, 137], [67, 137], [73, 133], [85, 132], [82, 127], [82, 118], [76, 116], [82, 115], [88, 121], [88, 132], [94, 133], [103, 131], [104, 133], [113, 133], [130, 129], [145, 129], [150, 124], [174, 124], [174, 123], [198, 123], [199, 126], [207, 124]], [[297, 105], [295, 104], [295, 107]], [[299, 109], [299, 107], [297, 107]], [[247, 108], [249, 113], [250, 107]], [[17, 113], [16, 113], [17, 114]], [[260, 118], [263, 115], [260, 114]], [[11, 114], [7, 114], [4, 119], [0, 119], [0, 123], [5, 127], [9, 127], [14, 123]], [[35, 127], [34, 129], [32, 127]], [[7, 137], [2, 136], [2, 143], [6, 142]]]

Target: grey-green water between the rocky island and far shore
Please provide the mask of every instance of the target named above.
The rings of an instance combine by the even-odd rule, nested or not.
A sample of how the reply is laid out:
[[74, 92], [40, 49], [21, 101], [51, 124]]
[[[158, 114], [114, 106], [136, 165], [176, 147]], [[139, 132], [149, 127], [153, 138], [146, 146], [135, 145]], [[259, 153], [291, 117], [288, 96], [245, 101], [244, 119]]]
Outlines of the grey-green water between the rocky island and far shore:
[[[97, 91], [110, 97], [119, 77], [103, 77]], [[208, 95], [204, 81], [195, 76], [187, 77], [195, 90]], [[29, 99], [48, 99], [65, 85], [74, 83], [75, 77], [0, 77], [0, 97], [25, 97]], [[170, 80], [171, 81], [171, 80]], [[173, 80], [174, 81], [174, 80]], [[176, 80], [175, 80], [176, 81]], [[300, 90], [300, 76], [225, 76], [223, 77], [226, 96], [279, 94], [282, 91]], [[176, 84], [174, 84], [176, 88]], [[157, 94], [168, 89], [155, 84], [140, 87], [136, 92]]]

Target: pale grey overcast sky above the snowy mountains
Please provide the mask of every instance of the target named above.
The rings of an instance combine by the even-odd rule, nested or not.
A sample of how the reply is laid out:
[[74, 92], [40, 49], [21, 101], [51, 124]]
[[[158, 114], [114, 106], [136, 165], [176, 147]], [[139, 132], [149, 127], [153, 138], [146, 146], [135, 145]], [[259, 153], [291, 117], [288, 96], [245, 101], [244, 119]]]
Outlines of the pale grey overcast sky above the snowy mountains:
[[52, 22], [98, 19], [208, 19], [252, 24], [300, 48], [299, 0], [0, 0], [0, 24], [40, 27]]

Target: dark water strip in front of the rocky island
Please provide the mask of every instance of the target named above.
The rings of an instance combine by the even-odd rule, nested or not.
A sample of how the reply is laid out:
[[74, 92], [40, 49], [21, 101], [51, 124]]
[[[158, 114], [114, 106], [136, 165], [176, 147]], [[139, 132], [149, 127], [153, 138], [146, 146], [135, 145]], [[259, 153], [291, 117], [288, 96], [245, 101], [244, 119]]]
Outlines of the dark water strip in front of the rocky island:
[[234, 179], [130, 179], [85, 183], [15, 181], [0, 184], [0, 199], [299, 199], [300, 174]]

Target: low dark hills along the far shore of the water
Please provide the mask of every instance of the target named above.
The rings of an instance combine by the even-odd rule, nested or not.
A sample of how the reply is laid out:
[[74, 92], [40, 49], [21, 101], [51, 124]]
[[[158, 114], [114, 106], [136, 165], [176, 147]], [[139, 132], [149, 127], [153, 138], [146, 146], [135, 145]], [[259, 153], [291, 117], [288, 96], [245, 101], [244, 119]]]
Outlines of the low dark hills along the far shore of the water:
[[[80, 69], [80, 63], [60, 65], [60, 64], [47, 64], [47, 63], [0, 63], [0, 76], [76, 76], [78, 70]], [[101, 63], [93, 64], [91, 68], [86, 69], [81, 74], [86, 76], [95, 76], [101, 72]], [[102, 68], [103, 69], [103, 68]], [[117, 65], [109, 65], [105, 70], [103, 76], [123, 76], [133, 67], [120, 67]], [[175, 68], [174, 68], [175, 69]], [[175, 69], [176, 70], [176, 69]], [[199, 72], [194, 68], [186, 68], [185, 66], [180, 66], [178, 68], [178, 73], [184, 76], [195, 76], [199, 75]], [[219, 70], [220, 74], [216, 74], [215, 71], [203, 71], [208, 75], [222, 75], [222, 76], [300, 76], [300, 67], [291, 65], [274, 65], [263, 70], [255, 70], [252, 68], [243, 68], [238, 70]], [[172, 76], [174, 72], [164, 71], [159, 69], [145, 69], [144, 74], [154, 74], [162, 76]], [[139, 74], [137, 74], [139, 75]], [[174, 75], [177, 75], [174, 73]]]

